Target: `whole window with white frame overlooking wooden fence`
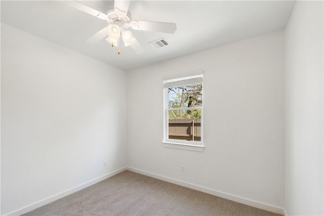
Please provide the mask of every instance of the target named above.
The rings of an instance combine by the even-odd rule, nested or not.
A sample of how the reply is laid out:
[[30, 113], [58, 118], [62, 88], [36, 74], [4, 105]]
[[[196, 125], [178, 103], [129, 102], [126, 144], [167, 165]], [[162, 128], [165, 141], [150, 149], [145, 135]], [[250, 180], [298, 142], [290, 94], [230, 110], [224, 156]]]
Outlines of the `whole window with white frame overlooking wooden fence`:
[[202, 147], [203, 71], [164, 80], [164, 91], [165, 143]]

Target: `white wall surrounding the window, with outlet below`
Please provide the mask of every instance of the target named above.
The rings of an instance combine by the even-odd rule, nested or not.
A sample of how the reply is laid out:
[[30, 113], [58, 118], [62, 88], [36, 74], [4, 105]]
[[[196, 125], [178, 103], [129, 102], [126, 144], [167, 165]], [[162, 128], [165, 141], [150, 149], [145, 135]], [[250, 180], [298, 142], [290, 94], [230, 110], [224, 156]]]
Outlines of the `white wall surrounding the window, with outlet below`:
[[[200, 69], [205, 150], [164, 148], [163, 77]], [[283, 31], [129, 71], [128, 88], [130, 167], [284, 208]]]

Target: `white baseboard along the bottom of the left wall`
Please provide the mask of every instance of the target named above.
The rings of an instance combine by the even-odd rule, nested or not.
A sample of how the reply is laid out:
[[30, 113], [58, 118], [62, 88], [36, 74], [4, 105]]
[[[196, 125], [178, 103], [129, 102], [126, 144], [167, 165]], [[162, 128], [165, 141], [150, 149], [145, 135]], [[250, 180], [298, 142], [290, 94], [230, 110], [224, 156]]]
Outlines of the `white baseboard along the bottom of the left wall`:
[[127, 170], [127, 167], [120, 168], [120, 169], [118, 169], [116, 171], [110, 172], [109, 174], [106, 174], [104, 176], [98, 177], [96, 179], [93, 179], [93, 180], [91, 180], [89, 182], [86, 182], [84, 184], [78, 185], [78, 186], [76, 186], [74, 188], [71, 188], [69, 190], [63, 191], [62, 193], [55, 194], [55, 195], [53, 195], [51, 197], [48, 197], [46, 199], [40, 200], [38, 202], [35, 202], [35, 203], [31, 204], [31, 205], [28, 205], [28, 206], [25, 206], [23, 208], [20, 208], [20, 209], [18, 209], [16, 211], [13, 211], [11, 213], [8, 213], [7, 215], [21, 215], [21, 214], [27, 213], [29, 211], [32, 211], [32, 210], [38, 208], [38, 207], [41, 207], [41, 206], [46, 205], [46, 204], [48, 204], [50, 202], [53, 202], [55, 200], [58, 200], [58, 199], [60, 199], [62, 197], [65, 197], [67, 195], [70, 195], [70, 194], [72, 194], [72, 193], [74, 193], [76, 191], [82, 190], [82, 189], [87, 188], [87, 187], [89, 187], [91, 185], [94, 185], [94, 184], [96, 184], [98, 182], [101, 182], [101, 181], [103, 181], [105, 179], [108, 179], [109, 177], [112, 177], [112, 176], [118, 174], [119, 172], [122, 172], [122, 171], [125, 171], [125, 170]]

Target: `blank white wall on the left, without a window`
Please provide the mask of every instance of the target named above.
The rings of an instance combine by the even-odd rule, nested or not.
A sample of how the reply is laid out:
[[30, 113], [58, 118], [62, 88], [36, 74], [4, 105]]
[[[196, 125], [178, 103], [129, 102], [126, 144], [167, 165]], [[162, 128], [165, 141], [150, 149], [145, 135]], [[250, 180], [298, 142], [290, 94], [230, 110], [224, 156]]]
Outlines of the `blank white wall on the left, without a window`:
[[123, 70], [1, 25], [1, 215], [127, 165], [126, 83]]

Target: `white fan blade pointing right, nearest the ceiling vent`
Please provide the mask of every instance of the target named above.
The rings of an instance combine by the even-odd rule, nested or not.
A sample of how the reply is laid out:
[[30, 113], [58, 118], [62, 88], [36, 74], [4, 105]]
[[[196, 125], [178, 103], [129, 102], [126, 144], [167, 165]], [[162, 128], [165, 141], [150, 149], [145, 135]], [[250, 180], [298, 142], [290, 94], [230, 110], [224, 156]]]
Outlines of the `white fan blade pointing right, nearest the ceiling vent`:
[[143, 31], [158, 31], [158, 32], [165, 32], [165, 33], [174, 33], [177, 30], [176, 24], [170, 22], [136, 20], [134, 23], [136, 22], [138, 22], [138, 25], [137, 26], [131, 25], [131, 27]]

